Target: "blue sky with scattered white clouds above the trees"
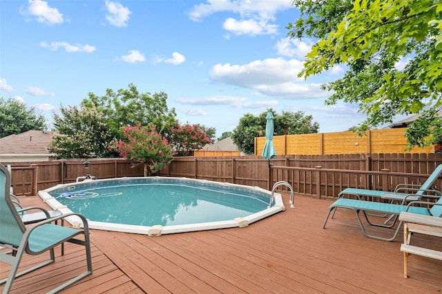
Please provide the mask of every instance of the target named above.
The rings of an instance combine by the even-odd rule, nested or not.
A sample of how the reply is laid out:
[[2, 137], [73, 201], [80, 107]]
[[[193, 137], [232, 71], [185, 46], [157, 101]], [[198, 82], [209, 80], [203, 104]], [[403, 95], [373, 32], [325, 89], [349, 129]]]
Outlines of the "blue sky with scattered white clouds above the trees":
[[316, 40], [287, 38], [291, 0], [1, 0], [0, 97], [48, 123], [62, 105], [133, 83], [165, 92], [180, 123], [233, 131], [269, 108], [311, 115], [319, 132], [361, 123], [358, 105], [326, 106], [322, 83], [298, 78]]

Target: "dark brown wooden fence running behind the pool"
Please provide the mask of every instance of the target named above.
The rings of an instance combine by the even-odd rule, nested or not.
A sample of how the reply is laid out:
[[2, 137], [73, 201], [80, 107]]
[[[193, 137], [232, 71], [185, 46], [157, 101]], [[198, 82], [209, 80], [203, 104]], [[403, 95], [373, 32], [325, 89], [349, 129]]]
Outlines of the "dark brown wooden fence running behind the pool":
[[[86, 174], [97, 178], [143, 176], [142, 167], [131, 168], [131, 162], [125, 160], [90, 160], [88, 169], [84, 160], [10, 164], [12, 187], [17, 195], [35, 195], [35, 191], [75, 182]], [[231, 182], [264, 189], [285, 180], [296, 193], [329, 198], [336, 197], [345, 187], [392, 191], [398, 183], [420, 184], [440, 164], [442, 154], [294, 155], [276, 156], [270, 162], [261, 156], [191, 156], [173, 158], [171, 165], [158, 176]], [[441, 189], [441, 185], [441, 180], [436, 181], [436, 189]]]

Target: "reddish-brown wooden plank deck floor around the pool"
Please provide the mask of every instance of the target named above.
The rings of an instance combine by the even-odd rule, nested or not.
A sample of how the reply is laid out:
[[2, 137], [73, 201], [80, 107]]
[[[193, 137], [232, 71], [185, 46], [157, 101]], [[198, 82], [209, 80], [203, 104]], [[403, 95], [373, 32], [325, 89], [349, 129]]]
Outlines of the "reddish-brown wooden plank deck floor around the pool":
[[[94, 272], [61, 293], [440, 293], [442, 262], [412, 255], [403, 277], [402, 233], [366, 238], [353, 211], [327, 229], [329, 200], [295, 197], [295, 209], [246, 228], [148, 237], [91, 230]], [[41, 204], [37, 196], [22, 200]], [[384, 229], [385, 230], [385, 229]], [[386, 230], [392, 233], [391, 230]], [[441, 248], [438, 238], [413, 237]], [[84, 271], [84, 247], [66, 244], [55, 264], [18, 278], [11, 293], [44, 293]], [[41, 260], [26, 256], [22, 266]], [[0, 277], [10, 267], [0, 265]], [[2, 290], [3, 287], [0, 287]]]

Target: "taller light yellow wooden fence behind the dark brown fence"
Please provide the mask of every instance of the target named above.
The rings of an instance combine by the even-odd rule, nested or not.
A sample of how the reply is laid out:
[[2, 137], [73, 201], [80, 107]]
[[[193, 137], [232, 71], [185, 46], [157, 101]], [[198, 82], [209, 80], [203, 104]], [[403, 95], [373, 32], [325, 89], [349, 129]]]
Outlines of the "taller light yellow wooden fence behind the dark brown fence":
[[[434, 153], [434, 146], [405, 151], [406, 128], [368, 130], [366, 136], [354, 132], [273, 136], [276, 154], [379, 154]], [[255, 155], [261, 155], [265, 137], [255, 138]]]

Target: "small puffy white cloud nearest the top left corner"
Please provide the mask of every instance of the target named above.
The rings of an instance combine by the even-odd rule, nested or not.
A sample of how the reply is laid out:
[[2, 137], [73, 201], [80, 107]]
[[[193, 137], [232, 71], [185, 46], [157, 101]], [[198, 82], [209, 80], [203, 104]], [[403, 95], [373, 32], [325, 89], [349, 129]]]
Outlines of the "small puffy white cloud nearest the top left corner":
[[21, 8], [21, 14], [36, 17], [39, 23], [44, 23], [46, 25], [55, 25], [64, 22], [63, 14], [61, 14], [57, 8], [51, 8], [48, 6], [48, 2], [29, 0], [28, 3], [28, 8]]

